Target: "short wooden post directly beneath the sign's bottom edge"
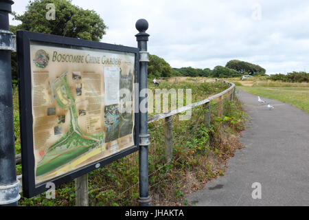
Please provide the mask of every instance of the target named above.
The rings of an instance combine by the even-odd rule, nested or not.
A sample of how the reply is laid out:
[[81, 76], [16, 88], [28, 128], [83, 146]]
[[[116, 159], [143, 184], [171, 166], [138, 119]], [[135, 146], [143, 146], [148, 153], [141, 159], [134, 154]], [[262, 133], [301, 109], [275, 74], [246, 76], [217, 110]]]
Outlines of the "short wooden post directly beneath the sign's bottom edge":
[[75, 206], [89, 206], [88, 174], [75, 179]]

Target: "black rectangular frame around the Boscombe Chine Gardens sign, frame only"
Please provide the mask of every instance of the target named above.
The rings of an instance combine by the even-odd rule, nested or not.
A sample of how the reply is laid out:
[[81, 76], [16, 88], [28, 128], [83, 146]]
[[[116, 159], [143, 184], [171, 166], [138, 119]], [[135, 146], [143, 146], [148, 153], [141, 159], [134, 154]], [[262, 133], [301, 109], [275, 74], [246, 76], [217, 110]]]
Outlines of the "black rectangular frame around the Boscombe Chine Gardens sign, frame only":
[[[36, 41], [39, 43], [47, 43], [52, 45], [59, 45], [65, 47], [88, 47], [89, 49], [109, 50], [115, 52], [129, 52], [135, 54], [135, 81], [139, 83], [139, 48], [126, 47], [122, 45], [113, 45], [108, 43], [100, 43], [93, 41], [85, 41], [80, 39], [72, 39], [52, 34], [40, 34], [36, 32], [18, 31], [17, 32], [17, 53], [19, 58], [19, 110], [20, 110], [20, 124], [21, 124], [21, 157], [22, 157], [22, 173], [23, 173], [23, 196], [34, 197], [49, 188], [46, 188], [47, 182], [36, 185], [34, 172], [34, 143], [33, 143], [33, 119], [32, 119], [32, 82], [31, 82], [31, 66], [30, 66], [30, 42]], [[133, 89], [135, 96], [135, 103], [139, 103], [138, 91]], [[125, 157], [130, 153], [139, 150], [139, 124], [140, 113], [135, 112], [135, 126], [134, 126], [134, 146], [125, 148], [113, 155], [95, 161], [91, 164], [83, 166], [78, 170], [73, 170], [71, 173], [61, 175], [54, 179], [50, 179], [56, 186], [63, 184], [76, 177], [80, 177], [86, 173], [102, 167], [106, 164]], [[100, 163], [100, 166], [98, 166]], [[97, 166], [96, 166], [97, 164]]]

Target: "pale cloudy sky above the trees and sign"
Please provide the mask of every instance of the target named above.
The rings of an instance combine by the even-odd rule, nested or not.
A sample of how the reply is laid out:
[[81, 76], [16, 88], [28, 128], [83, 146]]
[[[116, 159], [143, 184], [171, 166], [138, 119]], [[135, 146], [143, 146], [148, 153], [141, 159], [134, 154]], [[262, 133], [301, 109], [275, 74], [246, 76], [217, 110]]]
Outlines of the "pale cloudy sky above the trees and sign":
[[[23, 13], [26, 0], [12, 10]], [[214, 68], [231, 59], [266, 73], [309, 72], [306, 0], [73, 0], [95, 10], [108, 26], [102, 42], [136, 47], [135, 22], [146, 19], [148, 51], [172, 67]], [[57, 12], [56, 12], [57, 13]], [[12, 21], [16, 25], [18, 21]]]

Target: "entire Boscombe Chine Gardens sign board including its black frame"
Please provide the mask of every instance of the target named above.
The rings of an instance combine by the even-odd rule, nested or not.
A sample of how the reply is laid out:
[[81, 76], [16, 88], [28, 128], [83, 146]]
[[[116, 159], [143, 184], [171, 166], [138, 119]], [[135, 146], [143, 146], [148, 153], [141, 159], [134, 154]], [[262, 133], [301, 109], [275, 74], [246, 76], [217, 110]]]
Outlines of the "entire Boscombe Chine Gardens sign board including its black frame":
[[[19, 32], [18, 39], [23, 45], [19, 58], [29, 54], [28, 61], [19, 60], [23, 177], [27, 175], [23, 181], [28, 195], [41, 192], [42, 187], [36, 188], [48, 181], [60, 184], [68, 175], [73, 179], [102, 166], [99, 162], [118, 159], [119, 153], [127, 155], [133, 147], [137, 150], [137, 48], [33, 32]], [[25, 90], [30, 91], [30, 102]], [[31, 112], [23, 104], [31, 105]], [[23, 133], [24, 126], [31, 129], [30, 136]]]

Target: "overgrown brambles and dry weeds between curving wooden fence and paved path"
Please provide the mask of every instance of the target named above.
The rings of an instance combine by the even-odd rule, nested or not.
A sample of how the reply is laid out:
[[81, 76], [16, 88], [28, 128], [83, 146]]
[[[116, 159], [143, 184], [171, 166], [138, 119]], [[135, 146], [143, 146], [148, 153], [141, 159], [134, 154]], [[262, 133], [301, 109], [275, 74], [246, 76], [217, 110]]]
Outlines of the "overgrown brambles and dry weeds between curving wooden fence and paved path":
[[227, 159], [236, 148], [242, 147], [237, 138], [238, 131], [244, 128], [245, 117], [238, 102], [225, 103], [224, 110], [229, 115], [222, 118], [216, 116], [217, 104], [211, 104], [210, 126], [205, 123], [207, 106], [193, 109], [190, 121], [179, 121], [177, 117], [173, 119], [173, 159], [165, 165], [162, 165], [165, 158], [161, 138], [164, 120], [151, 124], [150, 149], [155, 153], [150, 153], [153, 155], [150, 161], [153, 165], [150, 167], [155, 173], [150, 173], [150, 194], [154, 205], [186, 205], [185, 195], [224, 175]]

